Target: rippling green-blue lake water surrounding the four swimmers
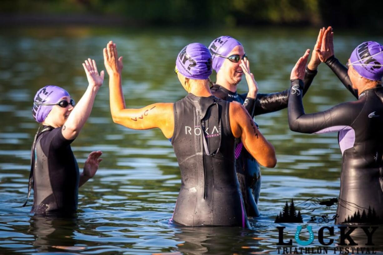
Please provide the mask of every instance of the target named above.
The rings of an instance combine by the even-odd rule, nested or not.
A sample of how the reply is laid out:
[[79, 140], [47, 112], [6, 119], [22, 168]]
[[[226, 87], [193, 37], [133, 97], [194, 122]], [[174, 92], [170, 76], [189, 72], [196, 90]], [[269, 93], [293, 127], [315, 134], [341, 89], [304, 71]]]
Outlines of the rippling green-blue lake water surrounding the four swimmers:
[[[289, 87], [296, 60], [311, 48], [316, 30], [240, 29], [237, 31], [110, 30], [95, 28], [8, 29], [0, 34], [0, 247], [5, 253], [69, 254], [263, 254], [277, 253], [278, 230], [293, 239], [296, 224], [275, 224], [294, 198], [303, 221], [334, 215], [336, 206], [303, 209], [306, 199], [339, 195], [341, 154], [337, 134], [306, 135], [288, 129], [287, 111], [257, 116], [260, 130], [277, 151], [275, 168], [262, 168], [259, 208], [251, 229], [180, 227], [169, 223], [180, 188], [180, 171], [170, 142], [159, 130], [134, 131], [114, 124], [108, 78], [92, 114], [72, 149], [82, 167], [92, 150], [103, 151], [96, 176], [79, 191], [74, 219], [29, 214], [27, 195], [30, 146], [38, 127], [31, 114], [34, 93], [54, 84], [79, 100], [87, 87], [82, 61], [92, 57], [103, 69], [102, 48], [113, 40], [124, 56], [123, 90], [130, 107], [174, 102], [186, 95], [173, 73], [177, 53], [188, 43], [208, 45], [222, 34], [245, 47], [260, 92]], [[382, 37], [335, 31], [336, 56], [346, 62], [362, 41]], [[212, 76], [214, 80], [214, 75]], [[247, 85], [241, 82], [240, 92]], [[354, 100], [331, 73], [319, 73], [304, 98], [306, 112]], [[314, 201], [311, 199], [311, 201]], [[318, 232], [320, 225], [313, 226]], [[303, 236], [308, 236], [302, 231]], [[336, 233], [337, 234], [337, 233]], [[303, 237], [304, 238], [304, 237]], [[337, 237], [334, 237], [335, 239]], [[383, 239], [383, 238], [382, 238]], [[318, 239], [310, 247], [316, 247]], [[332, 245], [331, 247], [334, 247]], [[330, 253], [330, 252], [329, 252]]]

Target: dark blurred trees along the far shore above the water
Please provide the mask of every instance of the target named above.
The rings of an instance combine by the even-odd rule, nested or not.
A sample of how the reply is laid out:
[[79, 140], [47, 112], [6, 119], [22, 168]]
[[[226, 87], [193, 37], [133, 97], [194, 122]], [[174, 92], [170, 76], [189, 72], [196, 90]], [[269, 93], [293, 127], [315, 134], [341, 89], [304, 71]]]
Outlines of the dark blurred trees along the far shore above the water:
[[383, 1], [365, 0], [3, 0], [0, 20], [93, 15], [136, 26], [332, 25], [376, 33], [382, 10]]

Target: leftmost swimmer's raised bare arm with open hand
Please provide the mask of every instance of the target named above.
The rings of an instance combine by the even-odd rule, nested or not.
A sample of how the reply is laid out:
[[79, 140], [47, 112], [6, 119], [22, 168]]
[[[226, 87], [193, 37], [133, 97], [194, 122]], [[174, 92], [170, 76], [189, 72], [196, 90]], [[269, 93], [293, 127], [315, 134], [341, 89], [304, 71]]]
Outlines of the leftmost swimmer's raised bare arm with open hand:
[[85, 63], [82, 65], [87, 74], [89, 85], [80, 101], [70, 113], [67, 121], [65, 121], [64, 126], [62, 126], [62, 135], [68, 140], [75, 139], [79, 135], [89, 118], [97, 92], [104, 80], [104, 71], [101, 71], [100, 75], [98, 75], [95, 60], [85, 60]]

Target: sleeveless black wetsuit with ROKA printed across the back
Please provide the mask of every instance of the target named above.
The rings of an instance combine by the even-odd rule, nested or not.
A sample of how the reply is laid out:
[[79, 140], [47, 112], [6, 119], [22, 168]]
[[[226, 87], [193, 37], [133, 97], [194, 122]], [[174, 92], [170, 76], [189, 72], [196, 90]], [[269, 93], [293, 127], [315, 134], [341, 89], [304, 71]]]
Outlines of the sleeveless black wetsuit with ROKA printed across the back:
[[173, 222], [248, 226], [235, 171], [229, 102], [193, 94], [177, 101], [171, 141], [182, 180]]

